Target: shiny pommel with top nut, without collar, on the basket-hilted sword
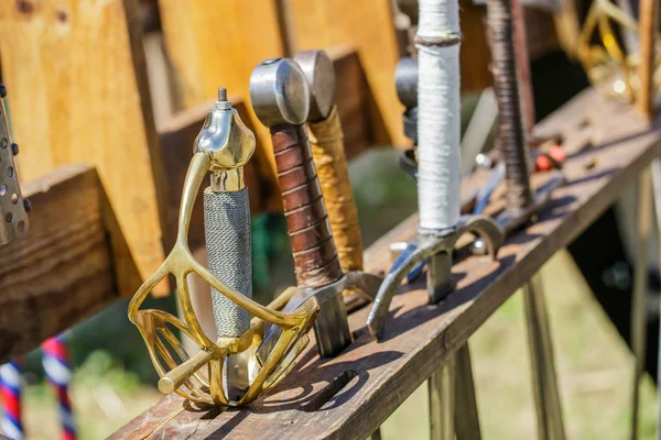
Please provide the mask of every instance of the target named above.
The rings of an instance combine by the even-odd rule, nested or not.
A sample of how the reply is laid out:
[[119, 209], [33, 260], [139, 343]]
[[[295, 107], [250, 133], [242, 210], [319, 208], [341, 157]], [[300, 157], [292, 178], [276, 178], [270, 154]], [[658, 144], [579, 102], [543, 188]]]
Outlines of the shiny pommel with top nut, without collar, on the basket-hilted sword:
[[242, 167], [254, 152], [254, 134], [227, 100], [226, 90], [218, 89], [218, 95], [195, 139], [194, 152], [210, 155], [212, 170]]

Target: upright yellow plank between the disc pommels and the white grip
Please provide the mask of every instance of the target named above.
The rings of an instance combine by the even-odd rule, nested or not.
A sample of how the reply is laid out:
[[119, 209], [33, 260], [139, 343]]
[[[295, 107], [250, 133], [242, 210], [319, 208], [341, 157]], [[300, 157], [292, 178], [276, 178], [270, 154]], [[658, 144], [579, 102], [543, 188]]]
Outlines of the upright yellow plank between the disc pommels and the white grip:
[[[380, 145], [409, 145], [394, 90], [401, 48], [387, 0], [285, 0], [291, 51], [356, 47], [370, 91], [370, 128]], [[338, 78], [339, 80], [339, 78]]]

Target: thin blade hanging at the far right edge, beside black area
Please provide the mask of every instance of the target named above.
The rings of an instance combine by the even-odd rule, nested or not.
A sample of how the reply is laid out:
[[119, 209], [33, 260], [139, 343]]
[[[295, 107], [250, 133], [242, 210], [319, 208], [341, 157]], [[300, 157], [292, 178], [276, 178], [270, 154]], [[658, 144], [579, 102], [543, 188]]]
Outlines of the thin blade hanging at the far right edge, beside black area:
[[647, 271], [648, 243], [652, 218], [652, 178], [649, 168], [638, 177], [638, 228], [636, 264], [633, 266], [633, 297], [631, 298], [631, 350], [635, 356], [633, 389], [631, 397], [631, 439], [638, 438], [638, 403], [640, 400], [640, 377], [644, 370], [644, 346], [647, 339]]

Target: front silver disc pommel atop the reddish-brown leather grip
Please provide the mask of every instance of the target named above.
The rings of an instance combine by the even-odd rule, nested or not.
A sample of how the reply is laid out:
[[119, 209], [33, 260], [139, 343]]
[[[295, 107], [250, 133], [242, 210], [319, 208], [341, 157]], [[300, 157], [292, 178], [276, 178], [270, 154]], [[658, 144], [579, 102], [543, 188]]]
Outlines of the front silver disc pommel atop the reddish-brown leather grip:
[[289, 58], [263, 61], [250, 75], [250, 100], [264, 125], [301, 125], [310, 111], [305, 74]]

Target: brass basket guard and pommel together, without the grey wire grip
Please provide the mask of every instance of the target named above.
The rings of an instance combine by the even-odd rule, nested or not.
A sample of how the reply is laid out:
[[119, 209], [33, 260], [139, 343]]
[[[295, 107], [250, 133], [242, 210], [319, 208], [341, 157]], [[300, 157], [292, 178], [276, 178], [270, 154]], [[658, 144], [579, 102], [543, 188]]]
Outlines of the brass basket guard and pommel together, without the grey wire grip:
[[[216, 110], [221, 111], [212, 111], [207, 117], [186, 173], [176, 242], [163, 264], [131, 299], [129, 319], [138, 327], [147, 343], [161, 376], [159, 389], [162, 393], [177, 393], [201, 404], [240, 406], [254, 400], [293, 367], [293, 361], [308, 342], [307, 332], [318, 312], [318, 304], [315, 298], [310, 298], [291, 312], [280, 311], [295, 292], [295, 288], [289, 288], [268, 307], [261, 306], [228, 286], [193, 257], [188, 248], [188, 228], [204, 177], [212, 172], [212, 187], [242, 185], [242, 166], [254, 151], [253, 134], [243, 125], [229, 101], [223, 99], [224, 91], [219, 95]], [[214, 118], [218, 119], [209, 120]], [[209, 124], [223, 130], [208, 130]], [[220, 337], [212, 341], [203, 331], [193, 309], [186, 280], [192, 273], [253, 316], [250, 328], [239, 337]], [[176, 280], [183, 320], [162, 310], [140, 309], [149, 293], [169, 274]], [[264, 338], [267, 323], [280, 327], [282, 334], [264, 358], [258, 356], [257, 351]], [[189, 355], [177, 339], [175, 329], [191, 338], [201, 351]], [[249, 386], [238, 399], [227, 397], [224, 384], [225, 361], [229, 355], [246, 358]]]

